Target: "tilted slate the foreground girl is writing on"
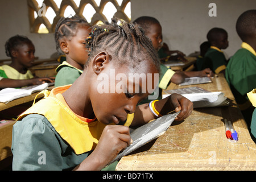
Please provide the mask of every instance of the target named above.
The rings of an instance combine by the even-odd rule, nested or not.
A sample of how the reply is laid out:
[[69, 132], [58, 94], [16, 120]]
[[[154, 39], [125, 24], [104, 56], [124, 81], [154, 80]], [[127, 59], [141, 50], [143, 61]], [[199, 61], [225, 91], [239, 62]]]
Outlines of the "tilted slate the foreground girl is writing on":
[[130, 129], [130, 137], [133, 139], [133, 143], [126, 147], [125, 150], [121, 151], [111, 163], [121, 159], [123, 156], [130, 154], [137, 148], [164, 134], [178, 114], [179, 112], [163, 115], [162, 117], [138, 127], [135, 130]]

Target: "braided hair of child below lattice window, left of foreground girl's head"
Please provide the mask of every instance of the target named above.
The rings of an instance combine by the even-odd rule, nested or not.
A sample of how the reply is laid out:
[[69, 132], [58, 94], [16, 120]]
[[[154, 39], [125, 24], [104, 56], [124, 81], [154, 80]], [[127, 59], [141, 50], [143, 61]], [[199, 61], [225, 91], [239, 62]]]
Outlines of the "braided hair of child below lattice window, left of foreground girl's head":
[[73, 16], [72, 18], [60, 18], [55, 27], [55, 43], [58, 53], [60, 53], [59, 40], [64, 37], [69, 38], [71, 36], [75, 36], [77, 26], [90, 27], [90, 24], [86, 21], [86, 19], [79, 18], [79, 16]]

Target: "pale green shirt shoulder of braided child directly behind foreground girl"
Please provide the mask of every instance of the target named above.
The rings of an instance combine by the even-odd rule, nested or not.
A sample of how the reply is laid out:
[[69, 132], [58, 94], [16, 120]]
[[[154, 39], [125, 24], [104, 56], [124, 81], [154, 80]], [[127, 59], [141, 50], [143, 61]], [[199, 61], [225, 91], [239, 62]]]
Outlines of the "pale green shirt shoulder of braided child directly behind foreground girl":
[[74, 68], [63, 67], [56, 75], [55, 86], [73, 84], [80, 75], [81, 73]]

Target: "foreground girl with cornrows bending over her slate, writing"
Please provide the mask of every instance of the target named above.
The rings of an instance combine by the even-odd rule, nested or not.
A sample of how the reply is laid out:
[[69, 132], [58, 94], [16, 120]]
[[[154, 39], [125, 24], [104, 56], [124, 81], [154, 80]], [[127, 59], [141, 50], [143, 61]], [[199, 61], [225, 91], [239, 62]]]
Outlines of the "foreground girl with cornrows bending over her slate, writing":
[[[141, 28], [126, 22], [122, 26], [106, 22], [92, 30], [86, 39], [90, 55], [81, 76], [72, 85], [54, 88], [15, 123], [14, 170], [100, 170], [129, 146], [127, 126], [157, 118], [148, 104], [137, 106], [150, 94], [149, 88], [156, 87], [154, 77], [159, 73], [158, 55], [150, 39]], [[130, 79], [133, 74], [151, 74], [145, 80], [151, 84]], [[121, 80], [116, 78], [120, 75]], [[146, 92], [134, 92], [138, 88]], [[192, 102], [179, 94], [156, 101], [154, 106], [162, 115], [180, 111], [176, 121], [193, 110]]]

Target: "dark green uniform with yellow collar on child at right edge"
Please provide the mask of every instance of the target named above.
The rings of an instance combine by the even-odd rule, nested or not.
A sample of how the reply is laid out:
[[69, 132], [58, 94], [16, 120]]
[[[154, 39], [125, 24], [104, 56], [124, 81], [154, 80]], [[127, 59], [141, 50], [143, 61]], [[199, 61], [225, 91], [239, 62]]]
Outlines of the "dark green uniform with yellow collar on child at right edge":
[[247, 93], [256, 88], [256, 53], [254, 49], [243, 42], [242, 48], [231, 57], [225, 72], [230, 89], [249, 125], [254, 107], [248, 100]]

